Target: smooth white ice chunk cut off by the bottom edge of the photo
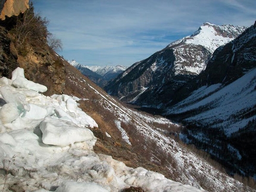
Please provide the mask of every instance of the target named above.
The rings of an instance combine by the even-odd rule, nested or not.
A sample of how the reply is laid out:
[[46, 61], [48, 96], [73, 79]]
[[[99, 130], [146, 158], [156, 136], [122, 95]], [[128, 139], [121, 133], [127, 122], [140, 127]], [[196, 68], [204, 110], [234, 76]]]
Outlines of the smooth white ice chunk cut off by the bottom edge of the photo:
[[74, 182], [74, 181], [65, 181], [56, 190], [56, 192], [73, 192], [73, 191], [108, 192], [108, 190], [96, 184], [95, 182]]

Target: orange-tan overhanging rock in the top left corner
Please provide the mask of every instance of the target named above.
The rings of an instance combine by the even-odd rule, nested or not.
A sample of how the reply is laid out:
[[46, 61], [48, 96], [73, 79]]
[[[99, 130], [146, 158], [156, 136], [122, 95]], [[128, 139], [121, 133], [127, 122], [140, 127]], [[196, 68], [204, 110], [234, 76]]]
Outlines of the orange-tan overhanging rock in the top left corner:
[[5, 17], [17, 16], [25, 12], [29, 8], [29, 0], [3, 0], [0, 3], [0, 20], [5, 20]]

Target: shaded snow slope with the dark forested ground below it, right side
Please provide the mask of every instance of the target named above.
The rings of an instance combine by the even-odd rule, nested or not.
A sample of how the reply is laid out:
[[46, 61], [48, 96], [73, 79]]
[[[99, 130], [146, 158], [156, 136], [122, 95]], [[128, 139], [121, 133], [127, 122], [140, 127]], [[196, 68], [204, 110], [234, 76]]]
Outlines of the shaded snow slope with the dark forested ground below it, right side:
[[255, 178], [255, 107], [254, 67], [230, 84], [196, 89], [165, 115], [179, 118], [187, 127], [180, 138], [213, 155], [230, 174]]

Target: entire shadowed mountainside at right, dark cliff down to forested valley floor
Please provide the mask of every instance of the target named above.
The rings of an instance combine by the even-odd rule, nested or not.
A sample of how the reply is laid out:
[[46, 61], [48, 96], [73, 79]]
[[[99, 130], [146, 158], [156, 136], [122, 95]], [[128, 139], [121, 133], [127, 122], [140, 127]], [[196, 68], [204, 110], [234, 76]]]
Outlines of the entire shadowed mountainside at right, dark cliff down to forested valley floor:
[[205, 71], [176, 92], [181, 101], [169, 103], [165, 114], [187, 125], [189, 143], [211, 153], [230, 172], [251, 177], [256, 172], [255, 55], [254, 24], [214, 52]]

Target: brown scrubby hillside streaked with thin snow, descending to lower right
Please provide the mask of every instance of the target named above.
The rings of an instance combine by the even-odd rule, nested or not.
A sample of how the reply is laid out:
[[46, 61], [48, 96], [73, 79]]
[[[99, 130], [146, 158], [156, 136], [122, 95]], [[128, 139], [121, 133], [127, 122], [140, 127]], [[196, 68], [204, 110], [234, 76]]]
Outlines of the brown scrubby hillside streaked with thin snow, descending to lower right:
[[[111, 119], [108, 115], [108, 121], [115, 121], [115, 125], [121, 127], [121, 135], [131, 144], [133, 152], [135, 150], [136, 153], [150, 159], [152, 164], [161, 166], [172, 180], [209, 191], [243, 191], [243, 184], [218, 171], [170, 137], [171, 127], [179, 128], [179, 125], [168, 119], [151, 117], [120, 105], [113, 97], [96, 89], [82, 78], [72, 77], [71, 80], [74, 83], [81, 81], [87, 84], [101, 97], [98, 103], [114, 115]], [[83, 100], [86, 98], [85, 96]], [[111, 137], [111, 134], [106, 135]]]

